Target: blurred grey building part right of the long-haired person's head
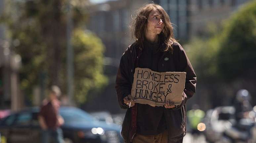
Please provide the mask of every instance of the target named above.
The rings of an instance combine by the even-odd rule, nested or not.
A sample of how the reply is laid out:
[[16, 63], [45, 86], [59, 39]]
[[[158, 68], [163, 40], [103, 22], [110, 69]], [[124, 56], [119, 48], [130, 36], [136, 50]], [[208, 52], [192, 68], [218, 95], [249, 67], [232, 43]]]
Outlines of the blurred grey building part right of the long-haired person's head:
[[220, 24], [250, 0], [159, 0], [169, 14], [176, 39], [187, 41], [204, 36], [210, 23]]

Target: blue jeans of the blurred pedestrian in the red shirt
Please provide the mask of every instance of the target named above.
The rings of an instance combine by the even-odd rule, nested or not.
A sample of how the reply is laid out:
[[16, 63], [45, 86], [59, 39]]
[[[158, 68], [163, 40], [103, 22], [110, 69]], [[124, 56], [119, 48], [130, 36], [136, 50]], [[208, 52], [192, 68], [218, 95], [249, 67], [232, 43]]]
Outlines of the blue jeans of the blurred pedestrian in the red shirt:
[[42, 143], [50, 143], [51, 140], [53, 140], [53, 143], [63, 143], [63, 132], [61, 128], [42, 131]]

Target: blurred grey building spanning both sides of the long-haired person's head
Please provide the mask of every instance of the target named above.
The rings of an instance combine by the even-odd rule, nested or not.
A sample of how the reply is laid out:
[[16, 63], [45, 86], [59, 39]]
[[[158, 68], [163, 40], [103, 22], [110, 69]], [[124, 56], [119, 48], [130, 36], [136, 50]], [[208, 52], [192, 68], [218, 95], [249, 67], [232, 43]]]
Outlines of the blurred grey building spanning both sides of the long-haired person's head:
[[[203, 36], [209, 23], [221, 23], [239, 6], [250, 0], [154, 0], [169, 14], [175, 38], [186, 42]], [[134, 40], [129, 29], [135, 11], [149, 0], [116, 0], [89, 9], [87, 29], [96, 33], [106, 46], [105, 56], [119, 60]]]

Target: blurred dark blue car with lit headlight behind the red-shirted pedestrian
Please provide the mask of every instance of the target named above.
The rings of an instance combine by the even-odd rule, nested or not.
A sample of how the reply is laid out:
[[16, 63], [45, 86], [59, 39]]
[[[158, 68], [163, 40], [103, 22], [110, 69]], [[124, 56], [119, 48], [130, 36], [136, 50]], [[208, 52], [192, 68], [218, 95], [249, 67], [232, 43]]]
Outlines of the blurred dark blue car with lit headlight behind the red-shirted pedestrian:
[[[40, 143], [41, 128], [37, 120], [39, 107], [13, 113], [0, 122], [0, 133], [7, 143]], [[61, 107], [61, 126], [66, 143], [123, 142], [120, 126], [106, 124], [76, 107]]]

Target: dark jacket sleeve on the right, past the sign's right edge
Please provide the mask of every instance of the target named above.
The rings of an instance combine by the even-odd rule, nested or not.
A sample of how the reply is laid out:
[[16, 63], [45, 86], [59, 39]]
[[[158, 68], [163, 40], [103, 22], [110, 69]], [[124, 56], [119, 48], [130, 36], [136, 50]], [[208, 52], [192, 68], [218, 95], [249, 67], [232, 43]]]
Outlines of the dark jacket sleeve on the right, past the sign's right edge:
[[194, 69], [189, 61], [188, 56], [186, 55], [185, 50], [180, 44], [178, 44], [178, 46], [178, 54], [176, 55], [177, 59], [175, 61], [177, 63], [176, 68], [179, 72], [186, 72], [186, 81], [185, 88], [182, 93], [181, 105], [177, 106], [176, 108], [172, 108], [173, 110], [178, 110], [187, 103], [187, 100], [190, 99], [195, 93], [196, 86], [196, 75]]

